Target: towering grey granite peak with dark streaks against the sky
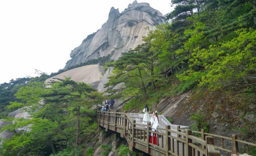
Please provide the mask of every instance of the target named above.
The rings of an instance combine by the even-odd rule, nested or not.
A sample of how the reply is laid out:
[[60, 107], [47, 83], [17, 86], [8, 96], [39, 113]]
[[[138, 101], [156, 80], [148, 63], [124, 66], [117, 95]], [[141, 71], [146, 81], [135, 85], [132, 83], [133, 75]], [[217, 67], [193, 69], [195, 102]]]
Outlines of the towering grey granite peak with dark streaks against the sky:
[[154, 29], [162, 23], [163, 15], [151, 8], [148, 3], [137, 3], [135, 0], [122, 13], [112, 7], [108, 21], [71, 52], [72, 59], [67, 62], [64, 69], [108, 54], [111, 59], [116, 60], [121, 53], [143, 43], [142, 37], [147, 34], [145, 27]]

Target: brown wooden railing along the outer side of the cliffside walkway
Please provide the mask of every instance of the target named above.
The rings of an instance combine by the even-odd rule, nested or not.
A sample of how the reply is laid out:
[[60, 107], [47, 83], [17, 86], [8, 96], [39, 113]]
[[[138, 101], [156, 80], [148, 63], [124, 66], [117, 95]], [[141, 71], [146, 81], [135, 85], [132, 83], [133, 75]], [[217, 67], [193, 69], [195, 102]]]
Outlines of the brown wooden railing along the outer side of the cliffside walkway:
[[[112, 130], [120, 133], [121, 137], [125, 137], [130, 150], [136, 148], [150, 153], [151, 156], [220, 156], [220, 152], [224, 151], [239, 154], [239, 147], [242, 147], [239, 146], [239, 143], [244, 147], [256, 147], [256, 144], [237, 139], [236, 135], [232, 135], [230, 138], [205, 133], [204, 130], [201, 132], [184, 130], [179, 126], [177, 126], [177, 130], [173, 130], [170, 125], [166, 125], [165, 128], [157, 128], [157, 132], [155, 132], [151, 130], [149, 122], [147, 125], [137, 123], [128, 116], [126, 111], [124, 113], [97, 111], [97, 121], [99, 126], [105, 128], [106, 131]], [[158, 145], [150, 142], [151, 133], [157, 135]], [[201, 137], [193, 136], [192, 133], [198, 133]], [[221, 140], [221, 147], [214, 145], [214, 140], [217, 139]], [[232, 143], [232, 149], [224, 146], [227, 141]]]

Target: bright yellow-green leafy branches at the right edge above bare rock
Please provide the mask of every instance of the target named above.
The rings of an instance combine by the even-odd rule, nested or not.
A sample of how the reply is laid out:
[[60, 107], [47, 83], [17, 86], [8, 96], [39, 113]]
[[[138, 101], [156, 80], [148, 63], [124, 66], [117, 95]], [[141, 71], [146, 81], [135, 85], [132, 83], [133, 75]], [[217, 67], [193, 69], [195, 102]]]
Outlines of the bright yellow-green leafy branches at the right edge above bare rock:
[[206, 65], [208, 72], [202, 77], [201, 86], [244, 88], [255, 83], [256, 31], [242, 28], [236, 33], [238, 37], [216, 47], [218, 51], [209, 49], [215, 51], [215, 57], [211, 64]]

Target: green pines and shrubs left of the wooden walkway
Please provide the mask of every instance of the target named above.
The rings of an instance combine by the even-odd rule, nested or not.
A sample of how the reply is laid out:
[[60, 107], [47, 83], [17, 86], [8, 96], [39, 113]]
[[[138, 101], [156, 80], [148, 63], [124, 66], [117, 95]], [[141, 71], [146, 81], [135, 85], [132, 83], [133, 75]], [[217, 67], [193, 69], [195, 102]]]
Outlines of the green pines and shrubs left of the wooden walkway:
[[[13, 131], [16, 128], [29, 126], [30, 131], [21, 131], [12, 139], [4, 140], [0, 153], [16, 155], [19, 152], [41, 155], [40, 153], [47, 153], [53, 150], [51, 147], [56, 146], [57, 151], [63, 147], [72, 147], [72, 150], [64, 150], [58, 153], [59, 155], [70, 153], [81, 155], [77, 142], [93, 135], [97, 129], [97, 124], [91, 119], [95, 112], [88, 109], [95, 102], [88, 96], [94, 89], [90, 85], [74, 82], [70, 78], [50, 85], [52, 85], [51, 88], [42, 88], [41, 82], [29, 82], [15, 94], [17, 99], [21, 100], [22, 106], [33, 106], [30, 107], [33, 118], [14, 119], [14, 124], [5, 126], [3, 130]], [[91, 97], [96, 96], [91, 95]], [[44, 105], [38, 103], [42, 98], [44, 98]], [[38, 111], [33, 112], [34, 109]], [[75, 140], [77, 145], [73, 144]]]

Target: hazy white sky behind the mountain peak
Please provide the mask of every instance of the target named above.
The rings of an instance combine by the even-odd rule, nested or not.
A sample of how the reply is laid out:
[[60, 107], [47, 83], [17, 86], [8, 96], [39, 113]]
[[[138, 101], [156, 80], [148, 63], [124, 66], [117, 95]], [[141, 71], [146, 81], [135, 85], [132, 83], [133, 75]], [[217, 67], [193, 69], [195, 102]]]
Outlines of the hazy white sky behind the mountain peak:
[[[108, 20], [113, 6], [124, 11], [134, 0], [1, 0], [0, 83], [63, 69], [70, 52]], [[163, 15], [171, 0], [146, 2]]]

